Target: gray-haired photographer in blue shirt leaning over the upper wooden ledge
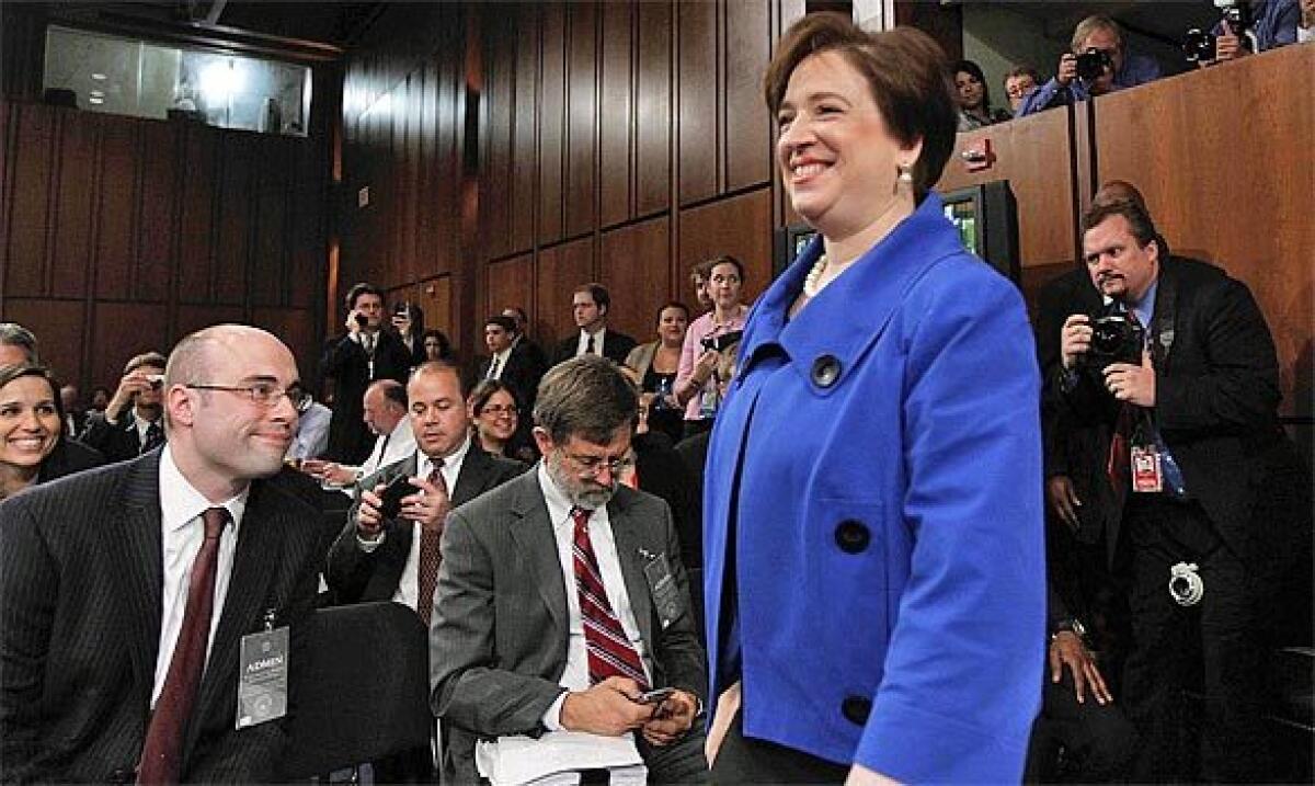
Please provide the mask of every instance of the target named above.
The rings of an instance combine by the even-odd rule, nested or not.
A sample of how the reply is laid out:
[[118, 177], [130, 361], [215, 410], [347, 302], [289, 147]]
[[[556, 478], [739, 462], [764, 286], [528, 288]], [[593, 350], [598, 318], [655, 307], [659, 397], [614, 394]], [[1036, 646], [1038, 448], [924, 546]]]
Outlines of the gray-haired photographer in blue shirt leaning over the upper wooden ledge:
[[1127, 53], [1119, 25], [1107, 16], [1089, 16], [1078, 22], [1073, 29], [1070, 50], [1060, 57], [1055, 78], [1023, 100], [1016, 117], [1086, 101], [1161, 76], [1155, 60]]

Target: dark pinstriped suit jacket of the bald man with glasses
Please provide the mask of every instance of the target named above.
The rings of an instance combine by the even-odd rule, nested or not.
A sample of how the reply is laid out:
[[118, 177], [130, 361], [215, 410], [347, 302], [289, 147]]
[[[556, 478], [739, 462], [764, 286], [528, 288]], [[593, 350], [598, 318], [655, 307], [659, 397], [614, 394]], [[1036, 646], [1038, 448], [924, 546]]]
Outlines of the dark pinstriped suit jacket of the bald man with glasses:
[[[0, 782], [132, 782], [159, 651], [159, 456], [0, 503]], [[277, 777], [284, 722], [234, 731], [239, 640], [262, 630], [272, 609], [276, 624], [292, 624], [291, 662], [301, 660], [301, 623], [320, 566], [316, 528], [305, 505], [264, 481], [251, 484], [184, 732], [184, 782]], [[289, 707], [296, 701], [293, 694]]]

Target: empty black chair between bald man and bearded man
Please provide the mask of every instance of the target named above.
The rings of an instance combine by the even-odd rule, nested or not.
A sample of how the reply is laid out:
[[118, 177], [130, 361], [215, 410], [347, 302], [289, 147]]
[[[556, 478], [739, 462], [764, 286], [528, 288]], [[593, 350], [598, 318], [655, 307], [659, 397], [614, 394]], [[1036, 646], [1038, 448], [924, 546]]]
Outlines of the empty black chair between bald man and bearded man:
[[299, 705], [283, 774], [312, 778], [430, 744], [429, 640], [400, 603], [321, 609], [306, 662], [292, 665]]

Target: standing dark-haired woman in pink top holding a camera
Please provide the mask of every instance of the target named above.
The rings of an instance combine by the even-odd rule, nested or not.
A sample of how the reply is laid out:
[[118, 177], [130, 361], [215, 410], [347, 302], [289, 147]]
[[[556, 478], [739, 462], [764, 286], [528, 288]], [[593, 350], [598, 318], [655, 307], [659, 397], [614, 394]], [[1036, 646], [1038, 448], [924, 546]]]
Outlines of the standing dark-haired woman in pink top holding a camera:
[[718, 256], [707, 273], [713, 310], [694, 319], [685, 331], [676, 373], [676, 400], [685, 407], [685, 436], [711, 428], [721, 406], [717, 363], [721, 354], [744, 330], [748, 308], [740, 302], [744, 266], [734, 256]]

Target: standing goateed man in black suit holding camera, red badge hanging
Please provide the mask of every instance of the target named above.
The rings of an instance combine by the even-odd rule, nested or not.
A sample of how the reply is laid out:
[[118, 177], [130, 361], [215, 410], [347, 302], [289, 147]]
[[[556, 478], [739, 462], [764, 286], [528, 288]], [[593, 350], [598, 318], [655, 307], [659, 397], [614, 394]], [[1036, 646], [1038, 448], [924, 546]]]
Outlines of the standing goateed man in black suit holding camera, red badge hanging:
[[1266, 762], [1260, 591], [1295, 536], [1283, 531], [1295, 517], [1261, 494], [1301, 493], [1277, 419], [1274, 343], [1247, 287], [1169, 256], [1140, 202], [1097, 201], [1082, 226], [1105, 305], [1093, 315], [1073, 304], [1047, 401], [1069, 427], [1107, 435], [1103, 455], [1088, 456], [1107, 488], [1084, 499], [1103, 510], [1085, 511], [1084, 523], [1105, 527], [1109, 559], [1128, 584], [1123, 703], [1143, 739], [1132, 779], [1191, 777], [1181, 701], [1199, 647], [1199, 775], [1249, 781]]

